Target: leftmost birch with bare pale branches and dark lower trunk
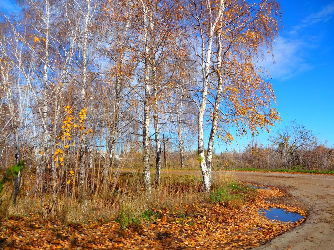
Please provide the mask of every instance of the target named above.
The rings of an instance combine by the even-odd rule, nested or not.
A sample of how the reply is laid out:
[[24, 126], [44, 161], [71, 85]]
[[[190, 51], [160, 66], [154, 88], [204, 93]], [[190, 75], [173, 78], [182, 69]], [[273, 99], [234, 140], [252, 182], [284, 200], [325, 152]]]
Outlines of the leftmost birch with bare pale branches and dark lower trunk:
[[[26, 20], [25, 20], [26, 21]], [[29, 40], [26, 22], [20, 19], [7, 19], [7, 29], [2, 32], [1, 43], [1, 82], [5, 88], [5, 101], [8, 106], [10, 120], [5, 125], [11, 127], [14, 142], [14, 164], [22, 159], [29, 122], [29, 98], [32, 75], [35, 69], [35, 55], [29, 53], [23, 41]], [[30, 57], [29, 57], [30, 55]], [[26, 84], [24, 84], [26, 83]], [[14, 179], [12, 192], [13, 203], [19, 195], [22, 173]]]

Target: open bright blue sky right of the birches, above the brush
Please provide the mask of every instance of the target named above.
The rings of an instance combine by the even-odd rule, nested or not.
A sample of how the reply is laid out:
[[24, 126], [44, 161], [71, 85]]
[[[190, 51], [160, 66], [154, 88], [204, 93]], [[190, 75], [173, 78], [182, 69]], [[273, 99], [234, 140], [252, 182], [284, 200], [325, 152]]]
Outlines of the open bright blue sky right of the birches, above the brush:
[[[5, 12], [13, 12], [14, 1], [0, 0]], [[289, 120], [319, 133], [319, 140], [334, 147], [334, 1], [279, 1], [282, 7], [280, 36], [274, 45], [274, 58], [268, 55], [264, 66], [272, 75], [277, 109], [282, 122]], [[258, 141], [267, 143], [268, 133]], [[236, 138], [228, 149], [242, 149], [248, 138]], [[217, 150], [225, 150], [225, 145]]]

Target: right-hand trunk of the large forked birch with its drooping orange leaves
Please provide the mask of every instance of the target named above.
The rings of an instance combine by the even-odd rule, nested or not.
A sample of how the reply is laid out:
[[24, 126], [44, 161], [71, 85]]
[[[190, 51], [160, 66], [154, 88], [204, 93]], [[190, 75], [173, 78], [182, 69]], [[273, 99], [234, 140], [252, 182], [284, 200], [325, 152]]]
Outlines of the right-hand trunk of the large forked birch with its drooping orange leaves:
[[219, 137], [228, 142], [232, 140], [230, 125], [236, 125], [242, 135], [246, 127], [254, 134], [258, 128], [267, 129], [279, 120], [276, 109], [270, 106], [275, 101], [271, 84], [261, 78], [255, 65], [262, 47], [268, 53], [272, 49], [278, 32], [278, 11], [275, 1], [231, 2], [218, 24], [215, 33], [217, 89], [206, 156], [209, 171], [218, 129]]

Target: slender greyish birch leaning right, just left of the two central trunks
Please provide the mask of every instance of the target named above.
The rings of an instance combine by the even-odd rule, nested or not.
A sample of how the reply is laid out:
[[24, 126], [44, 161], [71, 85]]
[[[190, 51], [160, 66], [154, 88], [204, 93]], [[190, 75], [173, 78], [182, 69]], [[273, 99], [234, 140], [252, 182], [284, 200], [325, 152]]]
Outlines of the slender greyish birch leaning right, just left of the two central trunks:
[[[134, 12], [131, 3], [126, 1], [110, 2], [103, 7], [103, 16], [101, 17], [102, 41], [106, 44], [101, 49], [111, 61], [110, 84], [113, 88], [112, 95], [112, 119], [109, 143], [106, 150], [106, 161], [104, 165], [104, 186], [107, 186], [109, 169], [113, 165], [115, 148], [117, 144], [117, 134], [120, 132], [120, 119], [122, 116], [122, 91], [126, 83], [132, 79], [134, 63], [131, 62], [131, 50], [129, 43], [133, 39], [130, 21]], [[125, 103], [123, 103], [124, 106]]]

